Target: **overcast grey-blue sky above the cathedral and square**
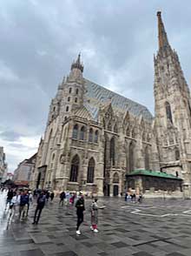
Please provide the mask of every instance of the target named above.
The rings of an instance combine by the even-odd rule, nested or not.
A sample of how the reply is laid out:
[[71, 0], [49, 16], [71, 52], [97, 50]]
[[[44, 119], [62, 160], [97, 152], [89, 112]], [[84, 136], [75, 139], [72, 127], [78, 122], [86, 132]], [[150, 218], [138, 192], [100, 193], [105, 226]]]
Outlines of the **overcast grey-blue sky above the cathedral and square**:
[[10, 172], [36, 152], [50, 99], [79, 51], [84, 77], [154, 113], [157, 10], [189, 84], [189, 0], [0, 1], [0, 145]]

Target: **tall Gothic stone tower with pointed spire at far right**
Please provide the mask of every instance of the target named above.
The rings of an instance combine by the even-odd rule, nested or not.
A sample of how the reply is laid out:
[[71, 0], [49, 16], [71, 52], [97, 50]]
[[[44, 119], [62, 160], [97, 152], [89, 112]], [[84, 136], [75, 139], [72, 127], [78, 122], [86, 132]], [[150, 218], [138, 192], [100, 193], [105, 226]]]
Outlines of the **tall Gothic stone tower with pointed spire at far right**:
[[191, 101], [179, 57], [168, 43], [158, 17], [159, 50], [155, 61], [155, 125], [161, 156], [161, 171], [184, 179], [185, 195], [190, 197], [191, 180]]

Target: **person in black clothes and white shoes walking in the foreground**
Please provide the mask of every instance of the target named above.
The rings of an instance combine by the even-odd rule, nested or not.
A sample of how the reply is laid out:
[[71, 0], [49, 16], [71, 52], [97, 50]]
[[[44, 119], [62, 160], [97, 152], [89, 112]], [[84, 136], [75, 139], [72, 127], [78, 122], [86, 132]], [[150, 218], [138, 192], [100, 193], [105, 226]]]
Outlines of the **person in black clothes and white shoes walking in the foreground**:
[[81, 235], [80, 226], [83, 222], [83, 212], [85, 211], [85, 203], [83, 199], [83, 194], [80, 192], [79, 199], [76, 201], [76, 214], [77, 214], [77, 226], [76, 226], [76, 234]]

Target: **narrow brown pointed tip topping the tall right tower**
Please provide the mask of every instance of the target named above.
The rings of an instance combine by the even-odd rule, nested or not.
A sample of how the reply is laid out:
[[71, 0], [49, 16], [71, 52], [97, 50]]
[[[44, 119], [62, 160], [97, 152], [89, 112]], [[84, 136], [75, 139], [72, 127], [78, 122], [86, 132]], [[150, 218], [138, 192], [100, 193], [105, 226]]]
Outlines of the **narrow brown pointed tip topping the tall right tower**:
[[159, 50], [165, 49], [166, 47], [170, 47], [168, 44], [167, 33], [164, 28], [164, 24], [161, 20], [161, 11], [157, 11], [158, 17], [158, 40], [159, 40]]

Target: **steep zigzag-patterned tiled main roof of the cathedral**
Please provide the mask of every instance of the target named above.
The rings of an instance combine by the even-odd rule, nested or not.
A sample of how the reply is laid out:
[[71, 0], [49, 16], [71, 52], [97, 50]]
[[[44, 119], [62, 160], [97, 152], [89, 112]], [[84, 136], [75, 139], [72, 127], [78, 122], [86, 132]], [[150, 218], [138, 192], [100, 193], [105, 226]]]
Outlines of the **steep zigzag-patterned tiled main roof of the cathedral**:
[[85, 79], [86, 99], [85, 107], [90, 111], [92, 117], [97, 120], [99, 104], [104, 104], [109, 99], [111, 104], [116, 111], [125, 112], [129, 111], [136, 117], [142, 115], [143, 118], [151, 121], [153, 119], [152, 114], [148, 111], [147, 107], [142, 104], [135, 103], [134, 101], [125, 98], [113, 91], [102, 87], [101, 85], [95, 84], [88, 79]]

